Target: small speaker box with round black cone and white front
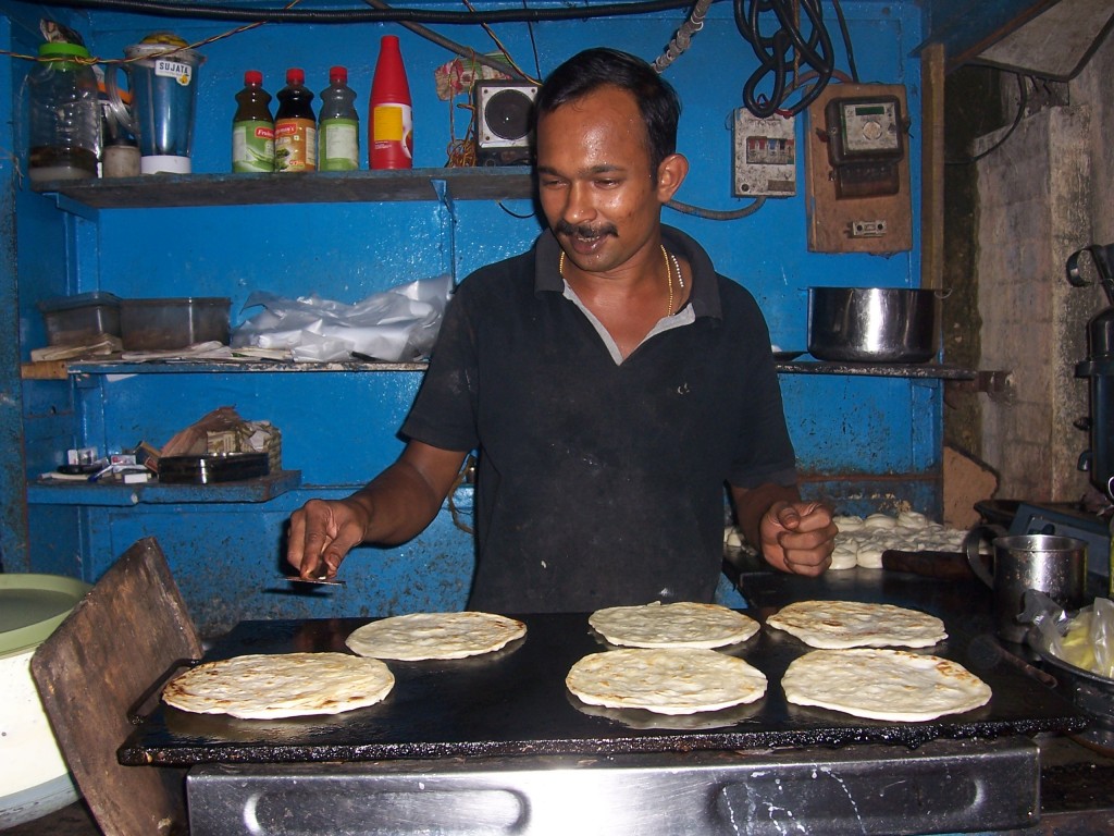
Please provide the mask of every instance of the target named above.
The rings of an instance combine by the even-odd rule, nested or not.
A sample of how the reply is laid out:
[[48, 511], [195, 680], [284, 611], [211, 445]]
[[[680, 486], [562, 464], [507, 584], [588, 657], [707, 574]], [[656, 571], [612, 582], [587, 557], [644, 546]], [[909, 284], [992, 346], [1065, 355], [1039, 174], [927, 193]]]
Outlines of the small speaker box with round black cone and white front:
[[476, 162], [478, 165], [529, 165], [531, 108], [537, 85], [477, 81]]

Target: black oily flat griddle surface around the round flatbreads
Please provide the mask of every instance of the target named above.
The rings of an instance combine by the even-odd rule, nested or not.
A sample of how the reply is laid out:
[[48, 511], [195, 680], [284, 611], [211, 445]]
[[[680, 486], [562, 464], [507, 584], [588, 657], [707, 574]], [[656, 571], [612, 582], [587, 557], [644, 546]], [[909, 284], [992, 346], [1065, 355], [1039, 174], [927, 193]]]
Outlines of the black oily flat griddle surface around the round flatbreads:
[[[918, 585], [939, 584], [926, 579], [915, 581]], [[880, 591], [877, 581], [871, 589]], [[818, 597], [824, 596], [823, 586], [810, 590], [819, 593]], [[769, 611], [751, 610], [750, 614], [764, 620]], [[608, 647], [588, 626], [587, 613], [516, 618], [526, 622], [526, 638], [496, 653], [452, 661], [388, 662], [397, 680], [391, 694], [378, 706], [342, 715], [237, 720], [159, 706], [119, 749], [119, 760], [126, 765], [188, 766], [849, 743], [917, 748], [940, 738], [1032, 736], [1077, 731], [1086, 725], [1084, 715], [1028, 675], [993, 639], [965, 633], [946, 615], [949, 638], [918, 652], [959, 662], [985, 680], [994, 696], [979, 709], [927, 722], [885, 722], [789, 704], [779, 686], [781, 675], [793, 659], [810, 649], [789, 634], [765, 628], [746, 642], [724, 649], [768, 677], [768, 692], [756, 703], [687, 717], [587, 706], [565, 688], [565, 674], [574, 662]], [[245, 653], [348, 652], [344, 639], [368, 621], [245, 621], [219, 640], [206, 659]]]

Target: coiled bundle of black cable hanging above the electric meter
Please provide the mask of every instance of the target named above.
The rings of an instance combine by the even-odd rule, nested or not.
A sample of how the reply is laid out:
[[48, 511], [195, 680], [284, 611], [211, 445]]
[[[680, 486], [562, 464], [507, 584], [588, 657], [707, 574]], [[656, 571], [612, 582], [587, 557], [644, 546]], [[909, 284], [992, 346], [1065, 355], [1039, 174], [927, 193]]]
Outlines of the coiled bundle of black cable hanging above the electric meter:
[[[808, 37], [801, 30], [800, 12], [808, 22]], [[735, 26], [751, 45], [759, 68], [743, 85], [743, 105], [761, 119], [782, 111], [793, 116], [807, 108], [828, 86], [834, 70], [832, 42], [824, 27], [820, 0], [734, 0]], [[765, 35], [765, 21], [774, 20], [778, 29]], [[785, 79], [804, 64], [817, 74], [815, 82], [804, 90], [797, 104], [786, 107]], [[771, 94], [760, 95], [759, 85], [771, 77]]]

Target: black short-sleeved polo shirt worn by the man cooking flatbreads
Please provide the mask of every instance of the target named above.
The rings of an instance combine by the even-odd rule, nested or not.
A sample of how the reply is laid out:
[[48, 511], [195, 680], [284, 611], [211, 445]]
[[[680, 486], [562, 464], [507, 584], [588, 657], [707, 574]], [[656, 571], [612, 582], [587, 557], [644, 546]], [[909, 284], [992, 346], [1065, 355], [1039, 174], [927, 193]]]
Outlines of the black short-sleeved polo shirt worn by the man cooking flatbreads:
[[758, 304], [691, 237], [663, 241], [692, 265], [690, 303], [622, 363], [566, 295], [549, 232], [457, 289], [402, 431], [479, 451], [470, 607], [711, 601], [724, 483], [793, 483]]

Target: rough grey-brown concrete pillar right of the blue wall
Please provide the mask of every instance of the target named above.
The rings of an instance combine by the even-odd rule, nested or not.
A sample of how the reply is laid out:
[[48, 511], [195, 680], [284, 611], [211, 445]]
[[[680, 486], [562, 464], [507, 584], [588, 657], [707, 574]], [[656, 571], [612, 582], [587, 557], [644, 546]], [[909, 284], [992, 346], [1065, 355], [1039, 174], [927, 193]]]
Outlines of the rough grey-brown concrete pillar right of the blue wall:
[[[1008, 401], [983, 401], [983, 457], [1000, 476], [999, 498], [1074, 502], [1086, 435], [1086, 322], [1097, 290], [1072, 288], [1064, 263], [1091, 243], [1087, 107], [1049, 107], [1024, 118], [978, 163], [979, 368], [1013, 372]], [[975, 154], [1009, 128], [980, 137]]]

